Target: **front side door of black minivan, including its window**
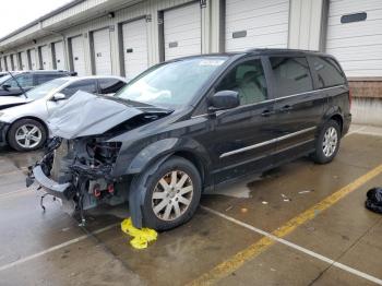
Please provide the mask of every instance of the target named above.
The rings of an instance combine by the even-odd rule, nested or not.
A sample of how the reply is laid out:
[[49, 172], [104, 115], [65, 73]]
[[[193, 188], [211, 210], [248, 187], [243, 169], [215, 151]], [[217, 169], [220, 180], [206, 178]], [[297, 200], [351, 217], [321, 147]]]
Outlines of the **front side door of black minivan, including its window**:
[[240, 106], [217, 111], [210, 154], [214, 162], [215, 183], [254, 172], [273, 164], [276, 150], [273, 100], [261, 58], [236, 63], [215, 92], [237, 91]]

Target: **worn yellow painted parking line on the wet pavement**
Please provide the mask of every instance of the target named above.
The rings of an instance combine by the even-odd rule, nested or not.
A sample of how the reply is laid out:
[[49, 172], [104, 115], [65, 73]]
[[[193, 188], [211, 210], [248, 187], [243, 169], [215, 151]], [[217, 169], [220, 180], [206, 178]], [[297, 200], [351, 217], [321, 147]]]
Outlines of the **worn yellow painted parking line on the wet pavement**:
[[[303, 213], [291, 218], [285, 225], [283, 225], [282, 227], [277, 228], [275, 231], [273, 231], [272, 235], [274, 235], [278, 238], [282, 238], [282, 237], [289, 235], [298, 226], [307, 223], [308, 221], [311, 221], [320, 212], [327, 210], [333, 204], [335, 204], [336, 202], [338, 202], [339, 200], [342, 200], [343, 198], [345, 198], [347, 194], [351, 193], [353, 191], [357, 190], [359, 187], [361, 187], [362, 184], [365, 184], [369, 180], [375, 178], [381, 172], [382, 172], [382, 165], [368, 171], [367, 174], [359, 177], [355, 181], [350, 182], [349, 184], [345, 186], [344, 188], [339, 189], [338, 191], [326, 196], [324, 200], [322, 200], [318, 204], [313, 205], [312, 207], [308, 208]], [[276, 242], [275, 240], [273, 240], [268, 237], [263, 237], [262, 239], [260, 239], [255, 243], [249, 246], [248, 248], [236, 253], [235, 255], [232, 255], [228, 260], [216, 265], [214, 269], [204, 273], [202, 276], [192, 281], [188, 285], [213, 285], [216, 282], [218, 282], [219, 279], [227, 277], [229, 274], [231, 274], [235, 271], [237, 271], [238, 269], [240, 269], [246, 262], [252, 260], [253, 258], [255, 258], [260, 253], [264, 252], [267, 248], [270, 248], [275, 242]]]

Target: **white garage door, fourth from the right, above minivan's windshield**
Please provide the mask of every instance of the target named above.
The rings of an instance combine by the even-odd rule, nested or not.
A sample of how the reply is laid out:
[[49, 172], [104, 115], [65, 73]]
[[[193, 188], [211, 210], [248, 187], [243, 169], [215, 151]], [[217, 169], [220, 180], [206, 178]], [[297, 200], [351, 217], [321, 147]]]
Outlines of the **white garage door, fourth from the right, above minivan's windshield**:
[[124, 76], [133, 79], [147, 69], [147, 32], [144, 19], [122, 26]]

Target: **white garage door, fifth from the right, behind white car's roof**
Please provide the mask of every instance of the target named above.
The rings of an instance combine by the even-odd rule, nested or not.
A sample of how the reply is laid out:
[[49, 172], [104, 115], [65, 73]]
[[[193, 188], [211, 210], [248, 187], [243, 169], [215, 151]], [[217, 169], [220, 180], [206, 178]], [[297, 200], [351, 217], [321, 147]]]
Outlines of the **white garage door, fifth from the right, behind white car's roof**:
[[93, 33], [95, 74], [111, 74], [110, 32], [108, 28]]

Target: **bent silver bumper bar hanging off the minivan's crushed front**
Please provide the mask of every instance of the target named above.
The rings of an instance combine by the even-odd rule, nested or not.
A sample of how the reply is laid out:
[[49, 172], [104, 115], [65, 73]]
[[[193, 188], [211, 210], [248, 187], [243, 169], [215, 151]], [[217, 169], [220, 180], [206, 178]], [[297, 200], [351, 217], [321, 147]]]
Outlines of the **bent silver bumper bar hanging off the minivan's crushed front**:
[[28, 177], [26, 178], [26, 187], [29, 187], [33, 182], [37, 182], [46, 192], [50, 193], [51, 195], [64, 200], [69, 199], [69, 192], [72, 188], [72, 184], [70, 182], [58, 183], [48, 178], [39, 165], [34, 167], [29, 172]]

